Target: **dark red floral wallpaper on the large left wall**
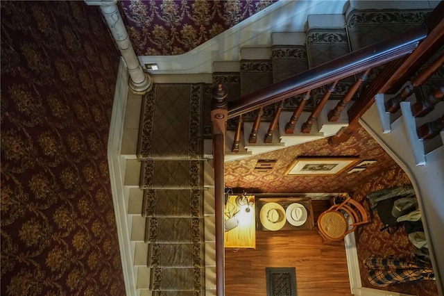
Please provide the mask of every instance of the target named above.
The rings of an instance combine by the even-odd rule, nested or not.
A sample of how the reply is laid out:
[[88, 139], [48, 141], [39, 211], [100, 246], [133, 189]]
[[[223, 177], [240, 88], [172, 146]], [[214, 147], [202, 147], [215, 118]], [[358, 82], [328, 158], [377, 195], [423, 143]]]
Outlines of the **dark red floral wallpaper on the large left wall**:
[[83, 1], [1, 1], [1, 295], [125, 295], [107, 142], [119, 53]]

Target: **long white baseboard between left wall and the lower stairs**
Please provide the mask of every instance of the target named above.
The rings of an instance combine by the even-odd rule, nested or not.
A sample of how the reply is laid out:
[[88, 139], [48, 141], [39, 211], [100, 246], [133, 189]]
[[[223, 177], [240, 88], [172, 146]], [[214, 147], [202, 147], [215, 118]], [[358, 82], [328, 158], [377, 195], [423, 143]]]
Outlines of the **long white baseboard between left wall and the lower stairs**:
[[116, 88], [114, 92], [114, 104], [110, 122], [110, 134], [108, 138], [108, 166], [112, 190], [112, 203], [116, 216], [117, 236], [125, 281], [126, 295], [137, 295], [136, 275], [133, 267], [131, 252], [130, 231], [126, 215], [124, 198], [123, 175], [121, 171], [121, 142], [123, 136], [123, 123], [125, 120], [126, 100], [128, 97], [128, 71], [123, 59], [120, 59], [119, 72], [117, 73]]

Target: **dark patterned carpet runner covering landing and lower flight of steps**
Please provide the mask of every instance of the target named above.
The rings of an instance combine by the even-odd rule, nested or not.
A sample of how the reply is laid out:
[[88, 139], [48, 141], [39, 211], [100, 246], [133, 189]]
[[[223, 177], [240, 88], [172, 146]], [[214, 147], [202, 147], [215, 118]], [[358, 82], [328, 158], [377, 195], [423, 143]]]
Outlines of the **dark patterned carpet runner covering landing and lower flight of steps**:
[[142, 104], [137, 156], [151, 268], [146, 280], [157, 296], [205, 295], [203, 90], [203, 84], [157, 84]]

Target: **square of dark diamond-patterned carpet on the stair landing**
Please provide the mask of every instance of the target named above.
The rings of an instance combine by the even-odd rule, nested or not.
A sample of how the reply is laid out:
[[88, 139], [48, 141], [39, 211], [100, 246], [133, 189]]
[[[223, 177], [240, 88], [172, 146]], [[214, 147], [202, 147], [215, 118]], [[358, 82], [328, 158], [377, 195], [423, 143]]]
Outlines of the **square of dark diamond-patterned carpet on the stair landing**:
[[156, 84], [144, 96], [139, 159], [196, 159], [202, 152], [203, 84]]

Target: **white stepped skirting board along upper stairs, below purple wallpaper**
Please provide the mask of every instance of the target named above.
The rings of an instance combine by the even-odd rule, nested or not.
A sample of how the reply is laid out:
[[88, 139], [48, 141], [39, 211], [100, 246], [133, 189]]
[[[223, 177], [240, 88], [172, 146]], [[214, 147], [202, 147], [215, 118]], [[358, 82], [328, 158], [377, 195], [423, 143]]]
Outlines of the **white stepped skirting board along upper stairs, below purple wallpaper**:
[[157, 64], [151, 74], [212, 73], [214, 62], [240, 60], [242, 47], [270, 47], [271, 33], [305, 32], [307, 15], [343, 15], [347, 8], [348, 0], [278, 1], [186, 54], [139, 56], [139, 61]]

